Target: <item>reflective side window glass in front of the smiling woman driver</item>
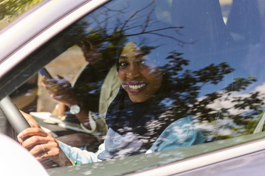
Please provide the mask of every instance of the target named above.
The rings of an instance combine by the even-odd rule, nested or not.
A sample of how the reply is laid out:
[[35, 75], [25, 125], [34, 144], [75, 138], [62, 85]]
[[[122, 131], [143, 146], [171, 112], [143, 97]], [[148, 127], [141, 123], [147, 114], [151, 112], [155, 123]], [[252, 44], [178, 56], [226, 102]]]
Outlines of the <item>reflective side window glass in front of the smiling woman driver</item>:
[[[34, 79], [37, 113], [28, 111], [60, 140], [82, 149], [96, 151], [106, 135], [118, 133], [124, 138], [116, 145], [105, 139], [110, 149], [99, 157], [107, 159], [262, 132], [263, 4], [111, 1], [29, 56], [42, 60], [39, 67], [52, 77], [68, 80], [78, 105], [100, 117], [94, 119], [95, 138], [84, 135], [89, 130], [70, 107], [58, 110], [40, 74]], [[85, 143], [77, 144], [77, 132]]]

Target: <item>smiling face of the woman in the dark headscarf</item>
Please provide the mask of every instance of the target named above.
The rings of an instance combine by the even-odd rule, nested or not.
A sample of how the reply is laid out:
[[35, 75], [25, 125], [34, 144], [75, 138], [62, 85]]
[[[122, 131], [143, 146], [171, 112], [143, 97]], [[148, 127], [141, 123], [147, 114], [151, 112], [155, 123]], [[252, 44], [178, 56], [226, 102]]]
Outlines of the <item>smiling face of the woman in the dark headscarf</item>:
[[160, 89], [163, 73], [135, 43], [130, 42], [120, 55], [118, 77], [131, 101], [140, 103]]

